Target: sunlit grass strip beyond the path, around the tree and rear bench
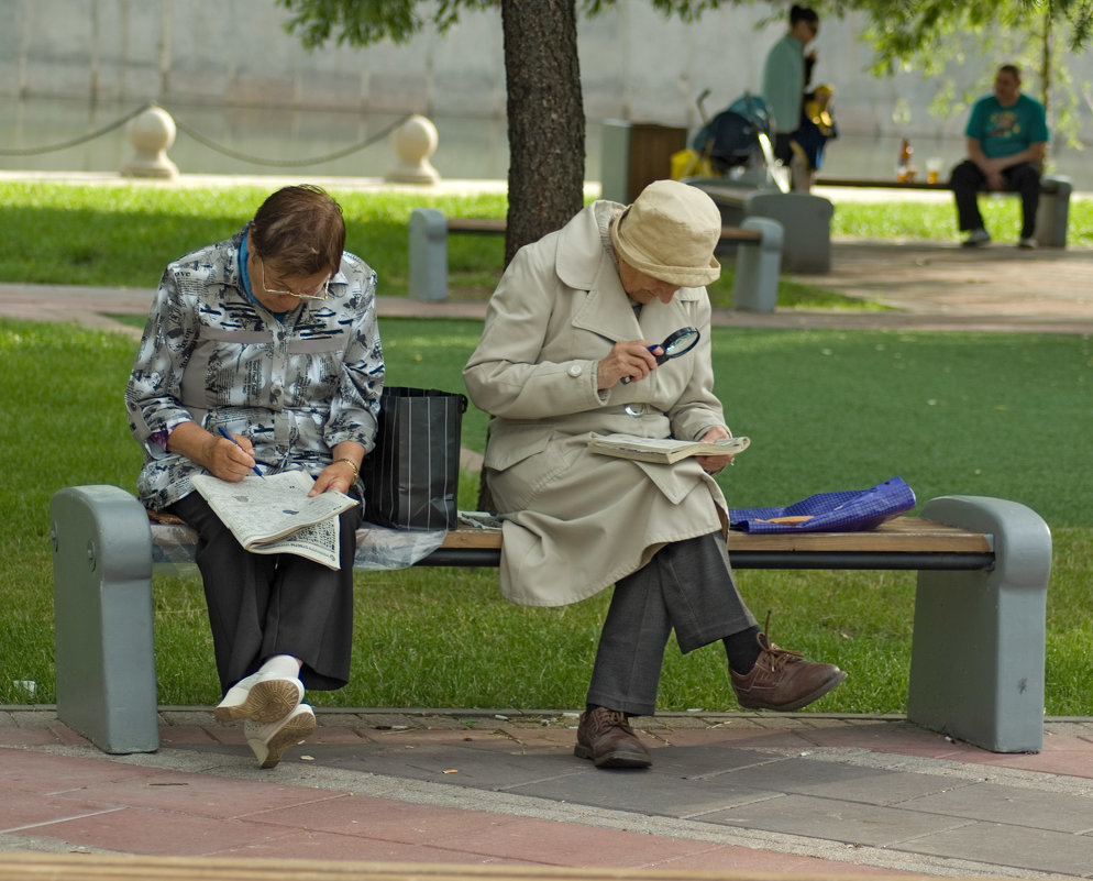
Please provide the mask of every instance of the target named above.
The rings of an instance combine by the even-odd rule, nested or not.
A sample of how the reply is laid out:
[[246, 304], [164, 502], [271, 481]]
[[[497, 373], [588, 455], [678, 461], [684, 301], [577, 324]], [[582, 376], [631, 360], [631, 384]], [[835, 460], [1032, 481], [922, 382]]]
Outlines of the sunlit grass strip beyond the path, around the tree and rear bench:
[[[268, 195], [254, 187], [162, 188], [118, 185], [0, 183], [4, 235], [0, 282], [154, 287], [170, 261], [238, 232]], [[450, 217], [505, 217], [500, 195], [433, 196], [333, 191], [345, 213], [346, 247], [379, 275], [379, 294], [406, 296], [407, 221], [419, 207]], [[448, 241], [449, 296], [488, 299], [500, 277], [499, 235], [453, 235]], [[732, 304], [732, 261], [709, 286], [715, 306]], [[783, 308], [873, 309], [874, 304], [827, 288], [782, 279]]]

